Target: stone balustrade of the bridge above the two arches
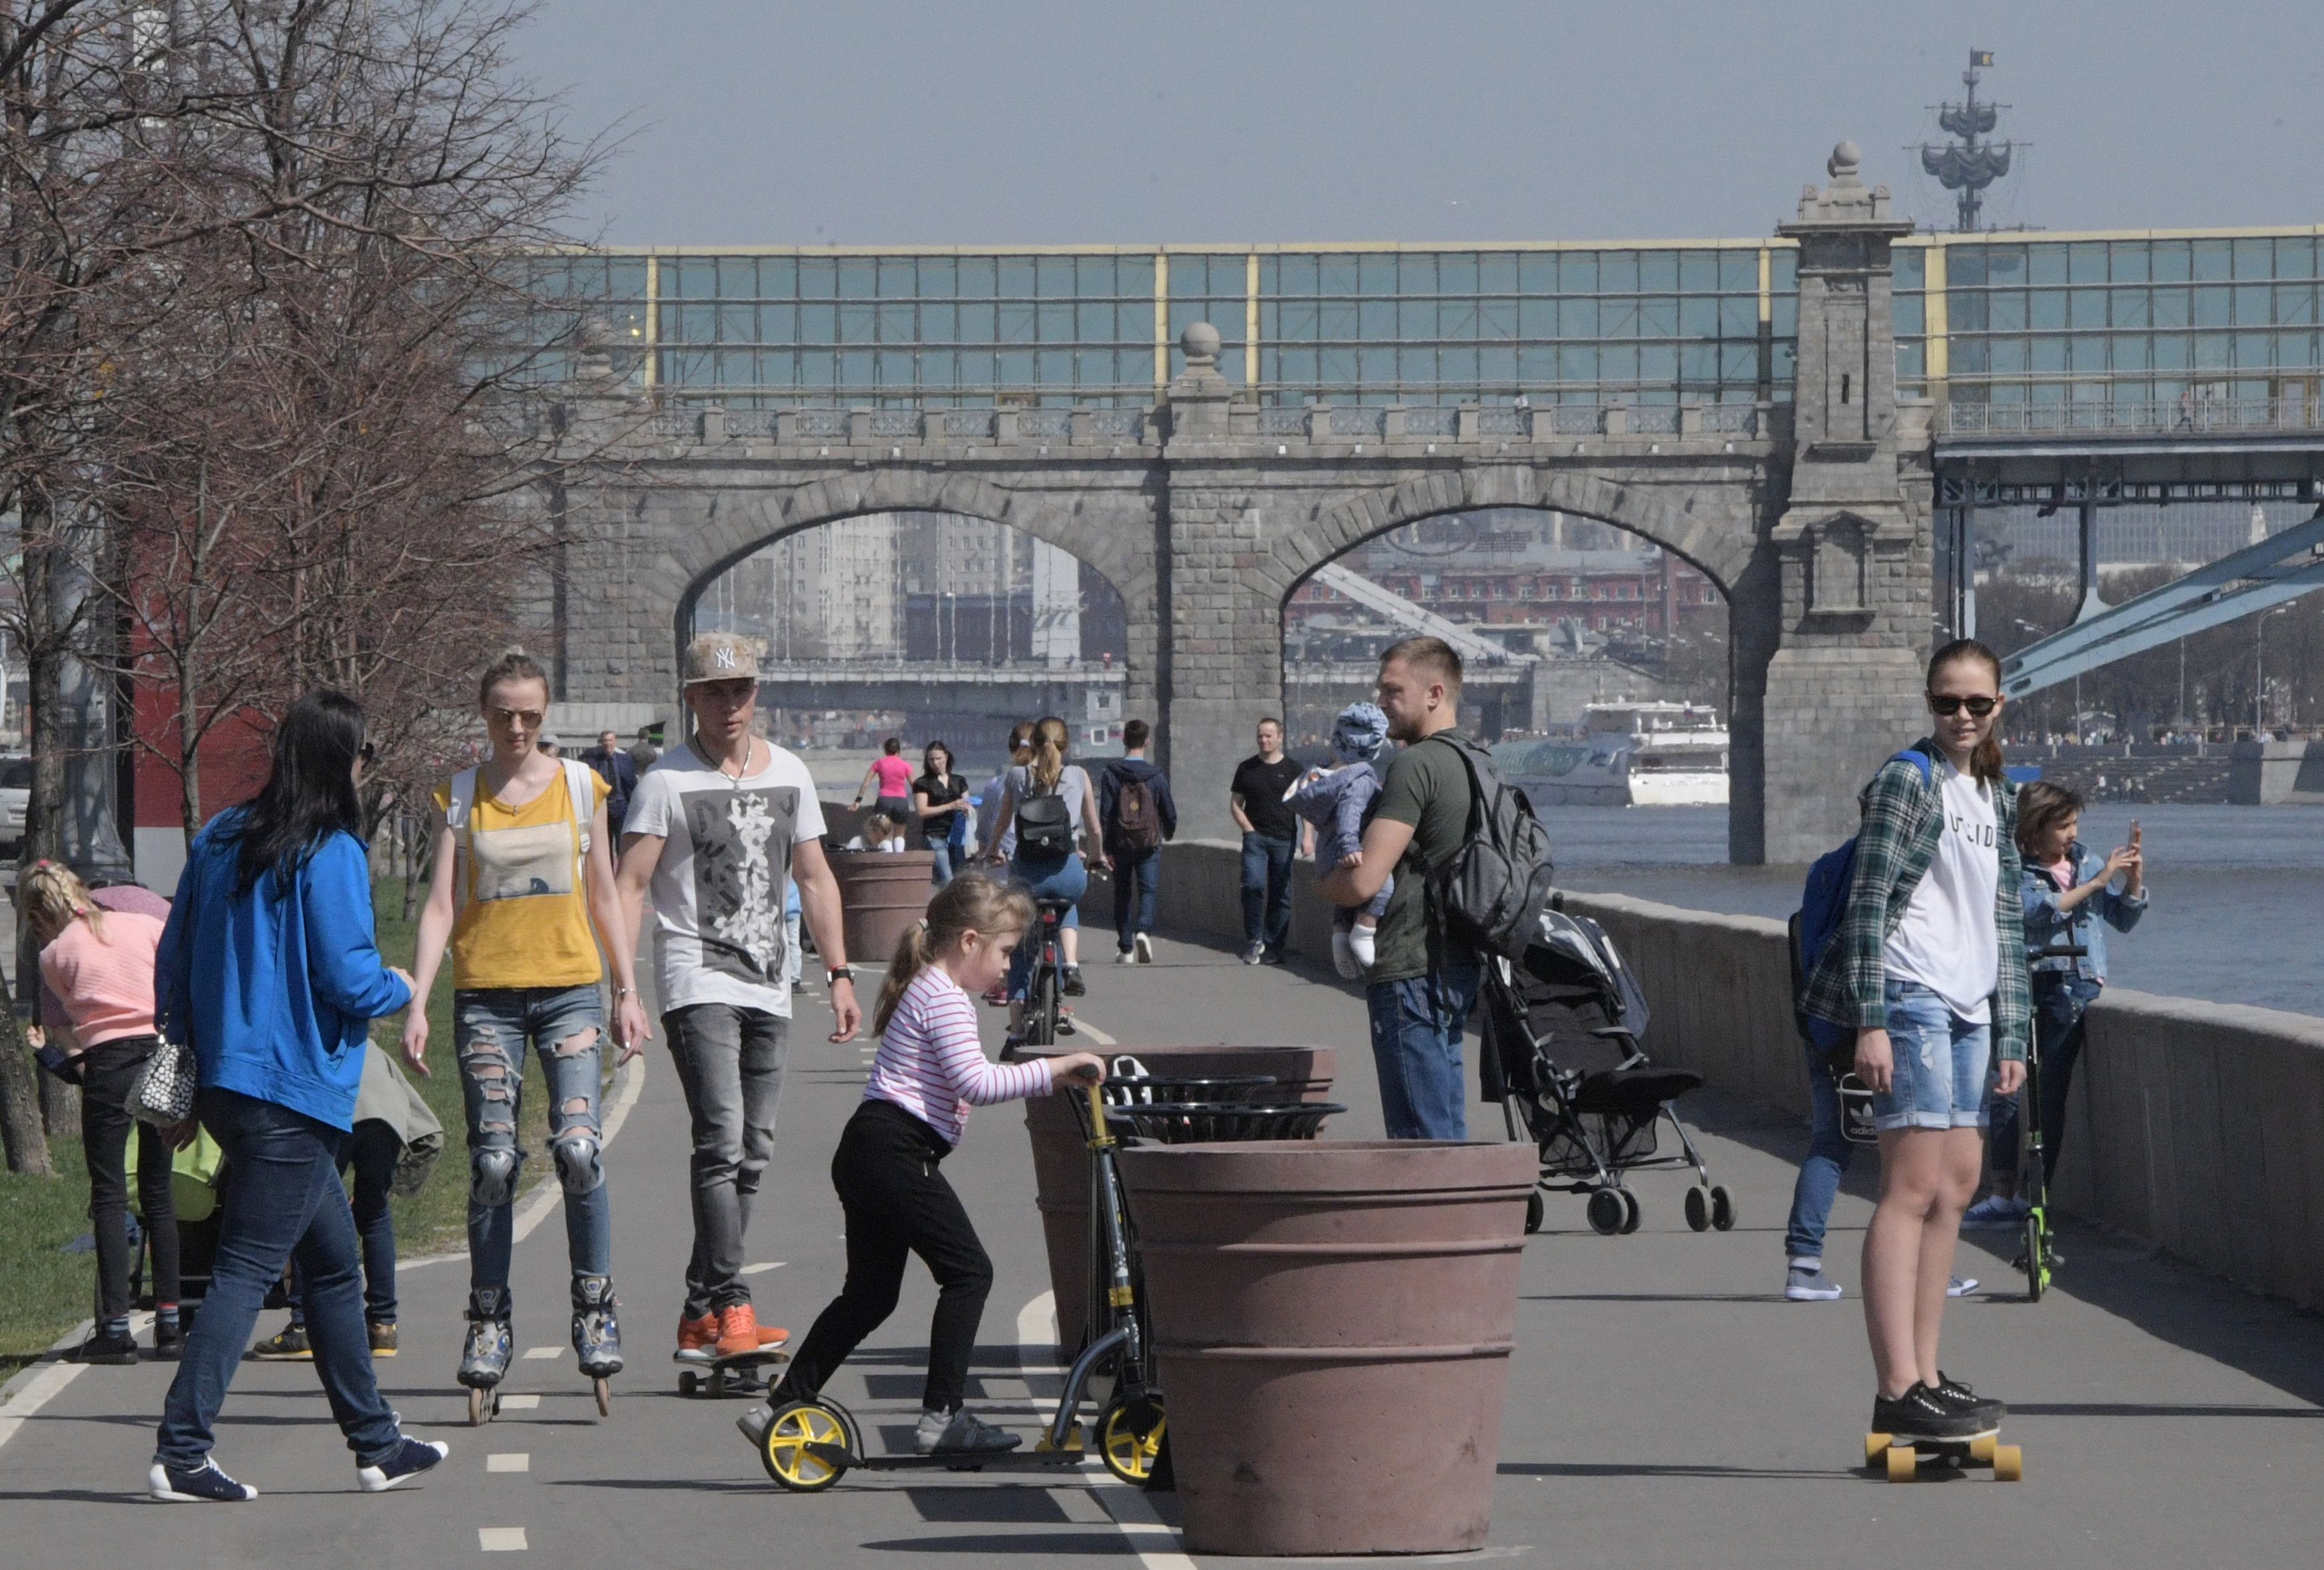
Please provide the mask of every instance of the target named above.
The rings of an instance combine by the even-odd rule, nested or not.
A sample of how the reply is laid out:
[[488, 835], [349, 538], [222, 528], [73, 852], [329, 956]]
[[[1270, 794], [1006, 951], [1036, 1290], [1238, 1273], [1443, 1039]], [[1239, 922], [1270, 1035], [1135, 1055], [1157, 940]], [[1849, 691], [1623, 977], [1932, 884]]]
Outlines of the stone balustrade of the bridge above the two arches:
[[[1227, 434], [1278, 444], [1318, 441], [1571, 441], [1745, 439], [1776, 434], [1778, 404], [1234, 404]], [[1966, 404], [1954, 406], [1966, 409]], [[1999, 404], [1996, 404], [1999, 409]], [[2013, 406], [2015, 409], [2015, 406]], [[2043, 406], [2054, 409], [2054, 406]], [[653, 413], [658, 439], [774, 441], [776, 446], [1155, 446], [1169, 406], [1150, 409], [725, 409], [676, 404]]]

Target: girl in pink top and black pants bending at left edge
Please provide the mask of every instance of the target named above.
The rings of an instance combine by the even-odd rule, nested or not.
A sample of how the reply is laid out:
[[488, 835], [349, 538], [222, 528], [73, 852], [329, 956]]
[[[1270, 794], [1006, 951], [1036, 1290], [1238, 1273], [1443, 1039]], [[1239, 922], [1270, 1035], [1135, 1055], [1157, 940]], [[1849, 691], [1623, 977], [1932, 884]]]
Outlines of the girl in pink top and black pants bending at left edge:
[[[72, 1354], [81, 1363], [135, 1363], [130, 1338], [128, 1136], [137, 1129], [137, 1205], [153, 1240], [153, 1354], [177, 1356], [177, 1208], [170, 1143], [128, 1112], [153, 1036], [153, 950], [163, 924], [105, 910], [70, 866], [40, 862], [16, 885], [16, 908], [40, 943], [40, 978], [65, 1006], [67, 1078], [81, 1085], [81, 1154], [88, 1219], [98, 1236], [98, 1324]], [[77, 1073], [74, 1073], [77, 1071]]]

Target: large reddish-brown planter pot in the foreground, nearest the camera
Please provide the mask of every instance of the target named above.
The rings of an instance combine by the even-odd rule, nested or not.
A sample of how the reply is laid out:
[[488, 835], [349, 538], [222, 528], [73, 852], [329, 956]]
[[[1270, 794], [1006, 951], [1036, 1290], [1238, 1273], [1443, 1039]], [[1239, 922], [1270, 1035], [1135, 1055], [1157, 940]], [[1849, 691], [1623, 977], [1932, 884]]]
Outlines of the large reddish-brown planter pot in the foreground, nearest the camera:
[[1122, 1150], [1190, 1554], [1492, 1528], [1532, 1145]]

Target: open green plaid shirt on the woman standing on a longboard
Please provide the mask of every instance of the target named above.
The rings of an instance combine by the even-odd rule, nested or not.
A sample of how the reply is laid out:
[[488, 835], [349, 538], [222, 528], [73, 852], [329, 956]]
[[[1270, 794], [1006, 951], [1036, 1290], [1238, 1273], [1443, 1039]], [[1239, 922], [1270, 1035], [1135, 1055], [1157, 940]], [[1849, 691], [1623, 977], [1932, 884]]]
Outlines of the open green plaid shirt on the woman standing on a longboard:
[[[1915, 748], [1931, 759], [1938, 757], [1929, 739]], [[1906, 759], [1882, 764], [1859, 801], [1864, 827], [1857, 831], [1848, 910], [1815, 973], [1808, 975], [1801, 1008], [1817, 1020], [1866, 1031], [1887, 1029], [1887, 941], [1903, 922], [1929, 862], [1936, 859], [1945, 813], [1943, 785], [1934, 769], [1922, 778], [1922, 771]], [[2001, 938], [2001, 980], [1992, 1001], [1994, 1057], [2022, 1061], [2033, 999], [2020, 906], [2024, 869], [2017, 857], [2017, 787], [2008, 780], [1994, 787], [1994, 834], [2001, 841], [2001, 878], [1994, 887], [1994, 929]]]

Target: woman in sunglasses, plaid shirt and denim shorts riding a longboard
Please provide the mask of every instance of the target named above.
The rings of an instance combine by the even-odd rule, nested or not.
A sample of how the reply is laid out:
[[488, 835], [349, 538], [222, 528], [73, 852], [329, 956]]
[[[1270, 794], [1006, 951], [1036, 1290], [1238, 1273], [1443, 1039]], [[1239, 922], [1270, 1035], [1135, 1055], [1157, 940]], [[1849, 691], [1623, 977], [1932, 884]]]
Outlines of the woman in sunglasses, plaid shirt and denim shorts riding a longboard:
[[1938, 1331], [1985, 1161], [1987, 1099], [2024, 1082], [2029, 1017], [2017, 792], [1994, 736], [2001, 660], [1973, 639], [1945, 643], [1929, 660], [1927, 701], [1936, 734], [1864, 787], [1838, 929], [1801, 996], [1808, 1017], [1855, 1034], [1852, 1066], [1873, 1094], [1871, 1428], [1901, 1442], [1971, 1438], [2006, 1414], [1945, 1375]]

